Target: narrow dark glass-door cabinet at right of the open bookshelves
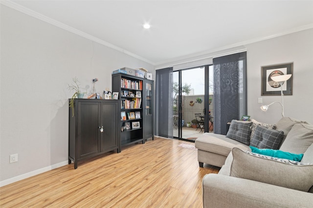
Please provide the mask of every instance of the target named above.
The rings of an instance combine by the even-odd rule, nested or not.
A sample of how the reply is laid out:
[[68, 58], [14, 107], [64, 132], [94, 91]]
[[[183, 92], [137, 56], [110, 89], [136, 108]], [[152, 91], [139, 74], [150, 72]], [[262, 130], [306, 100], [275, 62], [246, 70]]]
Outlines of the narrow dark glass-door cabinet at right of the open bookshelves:
[[154, 81], [143, 80], [143, 138], [145, 140], [154, 139], [154, 100], [153, 100]]

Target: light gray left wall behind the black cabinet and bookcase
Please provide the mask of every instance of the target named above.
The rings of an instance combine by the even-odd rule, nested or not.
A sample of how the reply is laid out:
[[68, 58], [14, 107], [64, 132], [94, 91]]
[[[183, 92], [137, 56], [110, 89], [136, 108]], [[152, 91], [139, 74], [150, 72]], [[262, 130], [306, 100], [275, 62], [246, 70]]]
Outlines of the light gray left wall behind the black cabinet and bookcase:
[[[1, 186], [67, 164], [68, 98], [73, 77], [99, 93], [113, 70], [154, 66], [1, 5]], [[85, 95], [86, 98], [86, 95]], [[9, 164], [9, 155], [18, 162]], [[22, 175], [22, 177], [21, 177]]]

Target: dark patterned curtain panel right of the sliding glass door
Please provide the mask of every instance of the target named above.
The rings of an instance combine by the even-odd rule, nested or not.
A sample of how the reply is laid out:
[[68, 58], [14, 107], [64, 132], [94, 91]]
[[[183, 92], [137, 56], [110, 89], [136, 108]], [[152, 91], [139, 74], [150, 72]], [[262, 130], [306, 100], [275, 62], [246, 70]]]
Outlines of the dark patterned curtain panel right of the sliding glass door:
[[226, 124], [247, 114], [246, 52], [213, 58], [214, 133], [226, 135]]

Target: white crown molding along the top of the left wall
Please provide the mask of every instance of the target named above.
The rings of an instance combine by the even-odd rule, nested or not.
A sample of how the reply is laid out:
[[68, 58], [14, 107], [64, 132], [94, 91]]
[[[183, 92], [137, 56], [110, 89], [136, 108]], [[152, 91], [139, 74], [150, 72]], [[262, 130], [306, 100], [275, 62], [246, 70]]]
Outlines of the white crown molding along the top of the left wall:
[[54, 26], [57, 26], [57, 27], [62, 28], [62, 29], [64, 29], [64, 30], [67, 30], [67, 31], [69, 31], [69, 32], [71, 32], [71, 33], [74, 33], [74, 34], [76, 34], [76, 35], [79, 35], [79, 36], [81, 36], [81, 37], [84, 37], [84, 38], [90, 39], [90, 40], [92, 40], [92, 41], [94, 41], [94, 42], [97, 42], [97, 43], [99, 43], [99, 44], [105, 45], [105, 46], [107, 46], [107, 47], [109, 47], [109, 48], [112, 48], [112, 49], [114, 49], [114, 50], [116, 50], [116, 51], [119, 51], [119, 52], [121, 52], [121, 53], [123, 53], [123, 54], [126, 54], [126, 55], [128, 55], [128, 56], [137, 58], [137, 59], [139, 59], [139, 60], [142, 60], [142, 61], [144, 61], [144, 62], [150, 63], [150, 64], [152, 64], [152, 65], [155, 65], [155, 63], [154, 63], [153, 61], [151, 61], [151, 60], [148, 60], [148, 59], [146, 59], [146, 58], [144, 58], [144, 57], [140, 57], [140, 56], [138, 56], [138, 55], [136, 55], [136, 54], [134, 54], [134, 53], [132, 53], [132, 52], [130, 52], [130, 51], [127, 51], [127, 50], [125, 50], [125, 49], [123, 49], [123, 48], [120, 48], [120, 47], [118, 47], [118, 46], [116, 46], [116, 45], [113, 45], [113, 44], [111, 44], [111, 43], [109, 43], [109, 42], [106, 42], [106, 41], [104, 41], [104, 40], [102, 40], [102, 39], [100, 39], [100, 38], [96, 38], [96, 37], [94, 37], [94, 36], [91, 36], [91, 35], [89, 35], [89, 34], [87, 34], [87, 33], [84, 33], [84, 32], [82, 32], [82, 31], [80, 31], [80, 30], [77, 30], [77, 29], [75, 29], [75, 28], [73, 28], [73, 27], [70, 27], [70, 26], [68, 26], [67, 24], [64, 24], [64, 23], [62, 23], [62, 22], [59, 22], [59, 21], [57, 21], [57, 20], [55, 20], [55, 19], [51, 19], [51, 18], [49, 18], [49, 17], [46, 17], [45, 15], [42, 15], [42, 14], [40, 14], [40, 13], [38, 13], [38, 12], [35, 12], [35, 11], [31, 10], [31, 9], [28, 9], [28, 8], [26, 8], [26, 7], [23, 7], [23, 6], [21, 6], [20, 4], [14, 3], [14, 2], [12, 2], [12, 1], [10, 1], [10, 0], [0, 0], [0, 4], [3, 4], [3, 5], [5, 5], [5, 6], [8, 6], [8, 7], [12, 8], [12, 9], [15, 9], [15, 10], [17, 10], [17, 11], [19, 11], [19, 12], [22, 12], [22, 13], [24, 13], [24, 14], [26, 14], [26, 15], [29, 15], [29, 16], [31, 16], [31, 17], [34, 17], [34, 18], [36, 18], [36, 19], [40, 19], [40, 20], [42, 20], [42, 21], [45, 21], [45, 22], [47, 22], [47, 23], [50, 23], [50, 24], [52, 24], [52, 25], [54, 25]]

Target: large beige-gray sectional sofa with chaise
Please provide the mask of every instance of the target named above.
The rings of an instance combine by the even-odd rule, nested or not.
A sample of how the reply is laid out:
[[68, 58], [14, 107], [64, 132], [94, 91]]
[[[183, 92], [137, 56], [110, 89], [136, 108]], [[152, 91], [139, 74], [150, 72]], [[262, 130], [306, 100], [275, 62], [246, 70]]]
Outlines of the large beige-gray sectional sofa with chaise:
[[279, 150], [303, 153], [301, 161], [253, 153], [235, 139], [204, 133], [195, 141], [200, 167], [205, 163], [222, 168], [203, 177], [203, 207], [312, 208], [313, 125], [289, 117], [276, 125], [253, 125], [282, 131]]

